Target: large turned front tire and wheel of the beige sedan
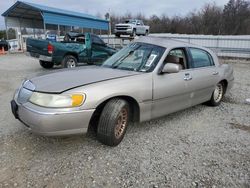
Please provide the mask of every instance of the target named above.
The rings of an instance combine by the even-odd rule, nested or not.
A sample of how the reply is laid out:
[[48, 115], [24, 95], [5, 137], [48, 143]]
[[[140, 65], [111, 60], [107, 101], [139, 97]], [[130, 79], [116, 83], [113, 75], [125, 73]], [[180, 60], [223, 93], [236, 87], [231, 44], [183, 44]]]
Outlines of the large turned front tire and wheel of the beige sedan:
[[129, 104], [122, 99], [112, 99], [104, 106], [98, 127], [97, 139], [108, 146], [117, 146], [123, 139], [130, 120]]

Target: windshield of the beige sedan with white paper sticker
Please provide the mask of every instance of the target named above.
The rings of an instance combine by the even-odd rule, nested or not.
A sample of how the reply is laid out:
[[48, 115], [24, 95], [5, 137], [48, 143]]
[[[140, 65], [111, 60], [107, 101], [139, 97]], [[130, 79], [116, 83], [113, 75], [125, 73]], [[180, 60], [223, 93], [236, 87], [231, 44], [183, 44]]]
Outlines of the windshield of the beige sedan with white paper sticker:
[[138, 72], [151, 72], [160, 60], [165, 48], [146, 44], [132, 43], [107, 59], [102, 66]]

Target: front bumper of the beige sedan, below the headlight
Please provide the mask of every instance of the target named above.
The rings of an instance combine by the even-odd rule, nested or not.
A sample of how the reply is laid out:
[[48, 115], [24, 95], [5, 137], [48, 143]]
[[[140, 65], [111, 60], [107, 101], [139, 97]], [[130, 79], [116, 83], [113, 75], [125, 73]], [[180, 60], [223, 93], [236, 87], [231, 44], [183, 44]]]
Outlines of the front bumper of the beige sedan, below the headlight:
[[[29, 102], [28, 102], [29, 103]], [[62, 136], [87, 132], [94, 109], [80, 111], [46, 111], [34, 104], [18, 104], [11, 101], [15, 118], [24, 123], [32, 132], [45, 136]], [[41, 110], [43, 109], [43, 110]]]

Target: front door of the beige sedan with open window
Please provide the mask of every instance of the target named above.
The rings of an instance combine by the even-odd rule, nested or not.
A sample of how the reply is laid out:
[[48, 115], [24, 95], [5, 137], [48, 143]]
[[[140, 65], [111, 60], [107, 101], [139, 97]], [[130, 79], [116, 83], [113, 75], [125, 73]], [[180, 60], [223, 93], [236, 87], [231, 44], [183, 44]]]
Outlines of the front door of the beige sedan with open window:
[[[172, 60], [171, 60], [172, 59]], [[169, 62], [171, 61], [171, 62]], [[185, 49], [173, 49], [166, 57], [165, 63], [180, 64], [178, 73], [165, 73], [153, 77], [152, 117], [160, 117], [191, 106], [186, 69]]]

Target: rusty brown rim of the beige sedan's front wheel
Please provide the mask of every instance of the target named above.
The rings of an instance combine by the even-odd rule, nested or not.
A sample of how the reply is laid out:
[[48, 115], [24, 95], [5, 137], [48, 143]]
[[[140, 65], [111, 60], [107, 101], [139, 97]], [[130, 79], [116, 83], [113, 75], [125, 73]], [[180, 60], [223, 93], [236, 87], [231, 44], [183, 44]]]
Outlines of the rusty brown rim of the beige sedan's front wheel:
[[119, 139], [123, 135], [127, 123], [128, 123], [128, 111], [126, 108], [123, 108], [118, 115], [117, 123], [115, 126], [115, 137], [117, 139]]

